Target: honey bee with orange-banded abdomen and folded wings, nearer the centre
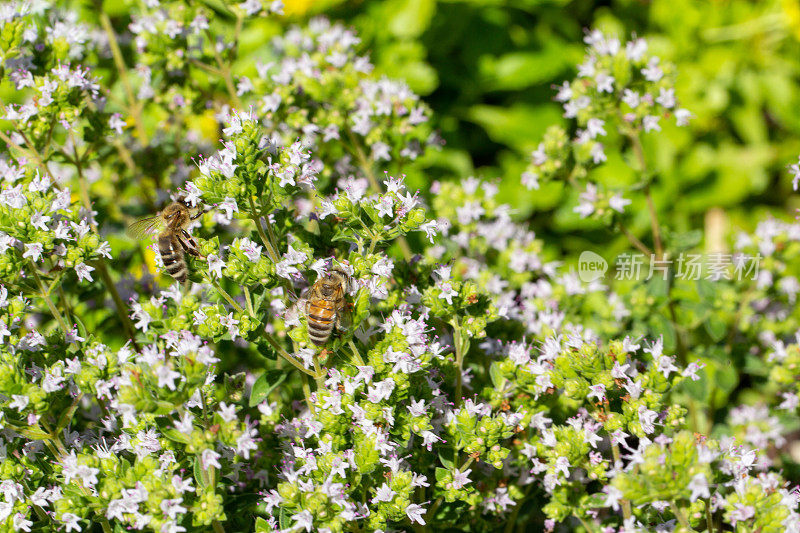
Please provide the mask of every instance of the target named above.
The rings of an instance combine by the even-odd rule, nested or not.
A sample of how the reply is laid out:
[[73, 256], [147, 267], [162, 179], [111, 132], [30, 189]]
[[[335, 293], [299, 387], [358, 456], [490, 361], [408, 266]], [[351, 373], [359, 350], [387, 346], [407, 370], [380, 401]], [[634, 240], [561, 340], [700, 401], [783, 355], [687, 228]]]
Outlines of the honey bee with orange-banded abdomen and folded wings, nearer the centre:
[[345, 295], [350, 291], [352, 279], [341, 266], [335, 266], [321, 276], [308, 291], [304, 302], [308, 319], [308, 336], [317, 346], [322, 346], [333, 333], [333, 328], [347, 329], [344, 311]]

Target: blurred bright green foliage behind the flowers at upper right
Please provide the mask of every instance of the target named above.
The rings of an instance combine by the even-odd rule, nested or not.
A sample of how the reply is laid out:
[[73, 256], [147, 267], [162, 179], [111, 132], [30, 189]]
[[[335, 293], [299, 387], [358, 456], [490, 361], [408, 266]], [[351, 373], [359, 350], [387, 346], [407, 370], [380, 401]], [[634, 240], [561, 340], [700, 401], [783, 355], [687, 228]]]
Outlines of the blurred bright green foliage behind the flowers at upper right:
[[[432, 106], [446, 146], [427, 157], [417, 179], [496, 178], [500, 199], [556, 237], [561, 251], [589, 246], [613, 255], [627, 247], [572, 212], [577, 202], [565, 202], [564, 195], [577, 191], [555, 183], [538, 191], [519, 185], [544, 130], [563, 121], [553, 85], [574, 76], [587, 28], [646, 37], [664, 61], [677, 65], [678, 97], [694, 119], [688, 129], [665, 127], [645, 146], [668, 231], [704, 229], [714, 221], [725, 230], [751, 230], [767, 212], [793, 216], [797, 207], [786, 170], [800, 153], [796, 0], [285, 4], [290, 19], [325, 14], [353, 26], [377, 69], [404, 78]], [[597, 179], [624, 187], [633, 176], [617, 156]], [[634, 230], [645, 234], [646, 210], [636, 203], [641, 195], [629, 196], [631, 212], [641, 213]]]

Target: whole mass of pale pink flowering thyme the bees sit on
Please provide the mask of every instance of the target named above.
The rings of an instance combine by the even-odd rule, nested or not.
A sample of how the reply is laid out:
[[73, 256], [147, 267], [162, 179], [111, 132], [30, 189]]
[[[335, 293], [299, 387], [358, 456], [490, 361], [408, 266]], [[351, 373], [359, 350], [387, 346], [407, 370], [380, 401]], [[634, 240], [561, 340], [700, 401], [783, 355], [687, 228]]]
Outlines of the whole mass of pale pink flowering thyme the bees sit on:
[[[280, 11], [0, 9], [0, 528], [800, 530], [796, 224], [737, 239], [752, 278], [586, 281], [496, 181], [428, 181], [427, 107], [351, 30], [248, 52]], [[649, 199], [672, 67], [587, 44], [523, 182], [696, 249], [594, 174], [630, 149]], [[170, 197], [196, 219], [122, 237]]]

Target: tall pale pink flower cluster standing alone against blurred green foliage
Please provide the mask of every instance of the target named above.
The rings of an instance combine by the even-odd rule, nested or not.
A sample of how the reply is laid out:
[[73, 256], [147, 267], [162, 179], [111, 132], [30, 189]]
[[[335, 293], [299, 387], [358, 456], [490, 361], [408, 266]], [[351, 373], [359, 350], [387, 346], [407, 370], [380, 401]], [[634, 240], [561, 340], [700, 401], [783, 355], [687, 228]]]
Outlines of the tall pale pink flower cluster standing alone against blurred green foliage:
[[[588, 179], [575, 212], [607, 219], [608, 213], [623, 213], [630, 203], [620, 191], [605, 191], [593, 178], [592, 169], [608, 159], [608, 147], [618, 147], [627, 139], [640, 170], [646, 172], [641, 135], [660, 131], [662, 120], [673, 117], [678, 126], [685, 126], [691, 113], [678, 107], [674, 67], [651, 55], [644, 39], [623, 45], [616, 37], [593, 30], [584, 41], [586, 57], [577, 77], [565, 81], [556, 95], [564, 117], [575, 124], [574, 134], [551, 126], [531, 154], [522, 184], [538, 189], [554, 179], [570, 184]], [[646, 181], [650, 176], [642, 178]]]

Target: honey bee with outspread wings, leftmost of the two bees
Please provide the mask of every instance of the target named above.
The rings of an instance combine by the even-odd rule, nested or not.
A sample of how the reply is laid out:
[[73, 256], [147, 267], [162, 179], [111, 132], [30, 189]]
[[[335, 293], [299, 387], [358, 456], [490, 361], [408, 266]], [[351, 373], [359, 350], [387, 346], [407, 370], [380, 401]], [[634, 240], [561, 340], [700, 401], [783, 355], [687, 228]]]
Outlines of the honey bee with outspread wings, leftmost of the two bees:
[[157, 233], [158, 251], [164, 262], [164, 268], [180, 283], [185, 283], [189, 277], [185, 258], [187, 253], [205, 259], [200, 254], [197, 241], [186, 231], [189, 223], [200, 218], [204, 213], [202, 209], [197, 213], [192, 213], [194, 209], [197, 208], [192, 208], [184, 201], [177, 200], [158, 214], [137, 220], [128, 226], [125, 232], [134, 239], [142, 239]]

